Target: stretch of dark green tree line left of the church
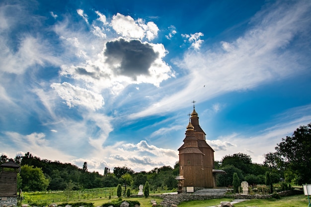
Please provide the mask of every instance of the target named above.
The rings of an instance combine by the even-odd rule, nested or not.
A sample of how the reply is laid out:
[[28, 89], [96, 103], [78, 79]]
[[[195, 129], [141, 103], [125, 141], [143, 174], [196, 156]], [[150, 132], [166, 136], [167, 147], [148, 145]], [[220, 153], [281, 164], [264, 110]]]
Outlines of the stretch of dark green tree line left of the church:
[[177, 187], [175, 177], [179, 174], [178, 163], [174, 168], [162, 166], [150, 172], [139, 173], [126, 166], [114, 167], [112, 172], [105, 167], [101, 175], [95, 171], [89, 172], [86, 162], [79, 168], [71, 163], [41, 159], [30, 152], [14, 159], [1, 155], [0, 165], [8, 160], [13, 160], [21, 166], [20, 172], [17, 173], [17, 188], [23, 191], [64, 190], [68, 185], [72, 185], [73, 190], [79, 190], [116, 187], [118, 184], [138, 189], [139, 185], [144, 185], [146, 181], [150, 183], [151, 191], [159, 188], [172, 190]]

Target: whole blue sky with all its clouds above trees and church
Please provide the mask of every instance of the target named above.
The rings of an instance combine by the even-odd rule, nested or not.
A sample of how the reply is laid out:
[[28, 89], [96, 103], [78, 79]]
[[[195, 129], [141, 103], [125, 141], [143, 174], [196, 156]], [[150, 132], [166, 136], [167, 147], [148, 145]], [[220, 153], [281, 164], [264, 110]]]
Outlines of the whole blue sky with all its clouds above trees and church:
[[0, 48], [12, 158], [173, 166], [193, 100], [215, 160], [311, 122], [310, 0], [2, 0]]

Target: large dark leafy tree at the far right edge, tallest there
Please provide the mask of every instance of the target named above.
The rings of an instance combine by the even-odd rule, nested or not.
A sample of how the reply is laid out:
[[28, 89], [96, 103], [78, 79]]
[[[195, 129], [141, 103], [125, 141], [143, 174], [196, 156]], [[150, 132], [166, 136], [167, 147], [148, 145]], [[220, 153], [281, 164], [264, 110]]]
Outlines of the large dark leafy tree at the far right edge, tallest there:
[[282, 138], [275, 149], [284, 159], [286, 174], [294, 175], [292, 183], [311, 183], [311, 123], [298, 128], [291, 137]]

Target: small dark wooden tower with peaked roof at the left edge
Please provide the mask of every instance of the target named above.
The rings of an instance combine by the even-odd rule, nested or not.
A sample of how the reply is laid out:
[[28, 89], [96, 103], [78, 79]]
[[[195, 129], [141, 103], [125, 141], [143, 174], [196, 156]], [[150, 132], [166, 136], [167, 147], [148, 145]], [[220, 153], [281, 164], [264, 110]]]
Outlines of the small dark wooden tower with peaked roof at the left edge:
[[[4, 170], [12, 168], [15, 170]], [[0, 206], [17, 206], [17, 172], [19, 165], [8, 161], [0, 165]]]

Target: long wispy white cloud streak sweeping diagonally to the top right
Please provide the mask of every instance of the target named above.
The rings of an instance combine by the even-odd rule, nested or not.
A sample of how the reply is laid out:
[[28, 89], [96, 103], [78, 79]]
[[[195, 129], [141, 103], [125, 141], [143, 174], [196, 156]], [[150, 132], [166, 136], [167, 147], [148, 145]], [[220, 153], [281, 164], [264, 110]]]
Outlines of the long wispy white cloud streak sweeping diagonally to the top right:
[[[165, 93], [161, 100], [131, 117], [174, 111], [187, 105], [188, 97], [204, 102], [220, 94], [254, 88], [306, 70], [309, 66], [299, 61], [305, 58], [304, 54], [291, 48], [290, 43], [298, 41], [299, 35], [310, 29], [309, 7], [297, 3], [292, 7], [269, 9], [257, 14], [262, 20], [254, 20], [254, 26], [244, 35], [225, 44], [226, 51], [222, 42], [221, 48], [186, 51], [182, 60], [174, 60], [175, 65], [188, 74], [167, 87], [177, 88], [181, 84], [184, 87], [173, 94]], [[184, 37], [191, 38], [187, 34]], [[195, 40], [195, 36], [192, 39]]]

